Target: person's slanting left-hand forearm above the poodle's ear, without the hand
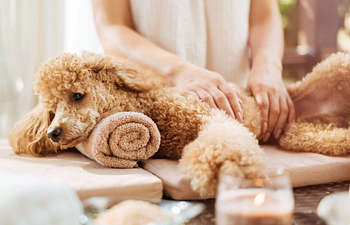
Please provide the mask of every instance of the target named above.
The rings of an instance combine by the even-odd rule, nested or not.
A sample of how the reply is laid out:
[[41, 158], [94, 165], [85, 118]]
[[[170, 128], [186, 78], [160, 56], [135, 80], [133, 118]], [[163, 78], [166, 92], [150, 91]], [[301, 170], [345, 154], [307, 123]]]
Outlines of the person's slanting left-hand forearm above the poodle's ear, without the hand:
[[173, 83], [176, 71], [189, 62], [158, 47], [129, 27], [113, 25], [100, 32], [101, 41], [107, 54], [126, 57], [164, 76]]

